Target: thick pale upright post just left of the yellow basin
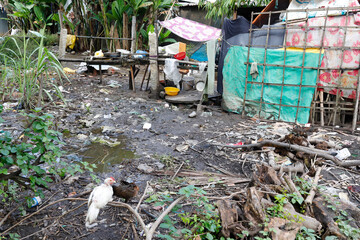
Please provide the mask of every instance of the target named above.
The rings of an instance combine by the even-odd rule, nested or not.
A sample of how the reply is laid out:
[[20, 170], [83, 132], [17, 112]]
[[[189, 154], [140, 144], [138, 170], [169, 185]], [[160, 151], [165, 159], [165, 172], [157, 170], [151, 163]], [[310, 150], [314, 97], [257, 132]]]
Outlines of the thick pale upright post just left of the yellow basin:
[[158, 98], [160, 93], [159, 65], [158, 65], [158, 38], [156, 33], [149, 33], [150, 47], [150, 89], [151, 98]]

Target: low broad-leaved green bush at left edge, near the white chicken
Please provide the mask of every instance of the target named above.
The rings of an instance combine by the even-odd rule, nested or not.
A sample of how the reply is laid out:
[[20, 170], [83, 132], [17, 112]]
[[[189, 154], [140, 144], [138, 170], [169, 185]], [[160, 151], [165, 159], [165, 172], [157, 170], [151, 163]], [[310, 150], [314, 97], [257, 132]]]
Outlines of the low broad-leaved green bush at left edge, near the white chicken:
[[[53, 129], [53, 116], [40, 114], [40, 111], [35, 109], [29, 114], [22, 113], [28, 127], [18, 136], [0, 130], [0, 196], [4, 202], [16, 199], [18, 185], [30, 188], [36, 196], [43, 197], [38, 187], [47, 187], [53, 181], [52, 175], [65, 176], [65, 173], [84, 172], [83, 169], [92, 171], [91, 166], [86, 164], [81, 166], [82, 163], [60, 161], [63, 154], [61, 133]], [[30, 198], [27, 200], [31, 205]]]

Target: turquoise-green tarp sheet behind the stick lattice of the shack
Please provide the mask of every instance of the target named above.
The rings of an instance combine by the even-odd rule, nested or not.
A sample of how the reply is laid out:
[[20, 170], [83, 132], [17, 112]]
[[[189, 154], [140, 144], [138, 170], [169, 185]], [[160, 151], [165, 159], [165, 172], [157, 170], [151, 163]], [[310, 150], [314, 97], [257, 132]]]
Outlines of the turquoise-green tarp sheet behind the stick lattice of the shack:
[[[233, 46], [230, 48], [226, 55], [223, 75], [224, 75], [224, 93], [223, 93], [223, 108], [230, 112], [241, 113], [243, 109], [243, 100], [245, 92], [245, 79], [246, 79], [246, 62], [247, 62], [248, 48], [241, 46]], [[264, 48], [250, 48], [250, 63], [264, 63]], [[322, 57], [321, 57], [322, 58]], [[321, 62], [321, 61], [320, 61]], [[286, 122], [295, 122], [297, 105], [300, 93], [300, 107], [310, 107], [313, 95], [315, 92], [317, 79], [317, 69], [303, 69], [303, 77], [301, 81], [301, 68], [286, 67], [284, 65], [284, 50], [281, 49], [268, 49], [266, 55], [267, 64], [281, 65], [266, 66], [265, 71], [263, 65], [258, 65], [259, 75], [253, 78], [249, 75], [248, 81], [261, 83], [264, 77], [264, 84], [248, 83], [246, 86], [246, 104], [245, 113], [248, 116], [257, 116], [265, 119], [283, 120]], [[303, 64], [303, 52], [296, 50], [286, 51], [287, 66], [301, 67]], [[315, 67], [319, 65], [319, 53], [306, 52], [305, 53], [305, 67]], [[284, 77], [283, 77], [284, 76]], [[294, 84], [294, 86], [283, 86], [283, 93], [281, 95], [282, 86], [267, 85], [271, 83], [282, 84]], [[300, 87], [300, 85], [302, 87]], [[261, 92], [263, 91], [263, 99], [260, 110]], [[280, 100], [282, 99], [282, 100]], [[248, 101], [250, 100], [250, 101]], [[258, 101], [258, 102], [252, 102]], [[281, 106], [279, 111], [279, 105], [291, 105]], [[300, 124], [306, 124], [309, 120], [310, 109], [299, 108], [297, 114], [297, 121]]]

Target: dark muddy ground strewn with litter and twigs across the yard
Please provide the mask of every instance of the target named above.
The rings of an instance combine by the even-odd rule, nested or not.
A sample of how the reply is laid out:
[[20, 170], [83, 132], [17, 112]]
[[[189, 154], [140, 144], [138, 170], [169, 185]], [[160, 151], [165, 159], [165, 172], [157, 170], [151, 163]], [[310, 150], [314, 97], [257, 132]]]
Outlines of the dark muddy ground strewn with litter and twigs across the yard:
[[[70, 82], [63, 84], [63, 94], [68, 106], [63, 109], [49, 105], [46, 108], [47, 112], [56, 117], [58, 130], [63, 133], [63, 141], [66, 143], [63, 149], [67, 154], [61, 160], [95, 163], [98, 166], [95, 173], [101, 180], [113, 176], [118, 181], [124, 179], [135, 182], [140, 191], [130, 201], [133, 207], [142, 196], [147, 181], [152, 181], [156, 192], [176, 192], [180, 187], [188, 185], [190, 181], [187, 179], [171, 181], [172, 176], [156, 173], [165, 169], [176, 171], [182, 163], [182, 169], [186, 170], [220, 170], [240, 178], [251, 178], [255, 165], [266, 161], [266, 153], [222, 149], [213, 144], [278, 139], [288, 132], [287, 127], [291, 128], [291, 124], [241, 118], [240, 115], [222, 111], [212, 101], [205, 107], [202, 115], [189, 118], [188, 115], [196, 110], [196, 105], [169, 104], [165, 100], [149, 99], [147, 92], [139, 91], [143, 71], [144, 69], [137, 78], [136, 92], [129, 90], [127, 69], [105, 75], [101, 85], [98, 84], [98, 76], [92, 74], [69, 75]], [[3, 115], [8, 127], [19, 124], [16, 113], [7, 111]], [[151, 123], [151, 128], [143, 129], [145, 123]], [[358, 157], [360, 150], [357, 135], [341, 129], [319, 128], [316, 131], [323, 133], [327, 139], [348, 147], [352, 153], [351, 158]], [[120, 144], [109, 147], [99, 143], [96, 138], [101, 139], [102, 143], [105, 140]], [[323, 174], [326, 181], [322, 184], [328, 188], [336, 185], [338, 189], [346, 189], [349, 184], [359, 183], [359, 175], [356, 174], [358, 170], [349, 172], [328, 167]], [[340, 177], [344, 174], [348, 178]], [[82, 193], [96, 184], [88, 172], [77, 177], [70, 184], [64, 180], [52, 184], [51, 191], [44, 192], [46, 197], [43, 204], [31, 209], [25, 208], [27, 214], [38, 211], [48, 203], [66, 198], [69, 193]], [[203, 187], [211, 196], [221, 197], [246, 186], [247, 183]], [[81, 197], [87, 198], [88, 194]], [[356, 199], [353, 201], [359, 204]], [[99, 226], [87, 231], [87, 207], [83, 203], [61, 201], [39, 211], [10, 232], [18, 233], [20, 239], [136, 239], [140, 233], [141, 228], [134, 222], [131, 214], [116, 207], [102, 210], [98, 217], [101, 221]], [[6, 215], [12, 210], [12, 206], [3, 209], [1, 215]], [[161, 213], [153, 209], [150, 203], [143, 203], [142, 207], [155, 216]], [[66, 211], [69, 213], [62, 216]], [[141, 212], [141, 216], [146, 224], [154, 221], [144, 212]], [[1, 230], [6, 230], [21, 219], [21, 209], [18, 209], [11, 214]], [[135, 229], [132, 228], [132, 222]]]

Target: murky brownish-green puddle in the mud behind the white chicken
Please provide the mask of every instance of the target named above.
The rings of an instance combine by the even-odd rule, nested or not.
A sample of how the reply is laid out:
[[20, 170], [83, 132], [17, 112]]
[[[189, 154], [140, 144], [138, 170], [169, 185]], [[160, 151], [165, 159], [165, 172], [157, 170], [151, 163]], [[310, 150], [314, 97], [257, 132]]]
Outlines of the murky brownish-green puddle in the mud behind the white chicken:
[[96, 164], [95, 172], [109, 172], [113, 164], [121, 164], [125, 159], [134, 159], [135, 153], [126, 148], [126, 138], [119, 137], [119, 145], [109, 147], [101, 143], [92, 143], [81, 153], [83, 161]]

